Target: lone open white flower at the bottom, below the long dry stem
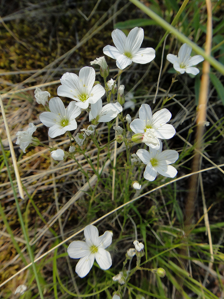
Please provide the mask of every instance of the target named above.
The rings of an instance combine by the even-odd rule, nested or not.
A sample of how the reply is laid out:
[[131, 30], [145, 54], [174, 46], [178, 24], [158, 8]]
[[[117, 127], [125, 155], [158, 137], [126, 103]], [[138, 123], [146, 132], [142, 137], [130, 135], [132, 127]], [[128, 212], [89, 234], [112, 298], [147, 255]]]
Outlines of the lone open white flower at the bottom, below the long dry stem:
[[93, 266], [94, 259], [103, 270], [111, 267], [111, 255], [105, 250], [111, 244], [112, 237], [109, 231], [99, 237], [96, 226], [87, 225], [84, 228], [85, 242], [73, 241], [68, 246], [67, 252], [73, 259], [79, 259], [76, 265], [76, 273], [80, 277], [86, 276]]

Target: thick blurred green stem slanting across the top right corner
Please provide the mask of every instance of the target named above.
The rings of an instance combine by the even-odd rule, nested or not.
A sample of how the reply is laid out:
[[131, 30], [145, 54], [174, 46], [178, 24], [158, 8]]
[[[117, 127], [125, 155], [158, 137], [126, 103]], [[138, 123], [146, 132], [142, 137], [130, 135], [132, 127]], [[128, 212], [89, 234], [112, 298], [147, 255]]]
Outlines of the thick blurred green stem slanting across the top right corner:
[[175, 29], [173, 26], [171, 26], [168, 22], [166, 22], [161, 17], [159, 17], [150, 8], [148, 8], [144, 4], [142, 4], [139, 0], [129, 0], [129, 1], [131, 1], [137, 7], [139, 7], [144, 13], [146, 13], [148, 16], [150, 16], [162, 28], [171, 32], [181, 42], [188, 44], [197, 54], [204, 57], [205, 60], [207, 60], [217, 71], [220, 71], [220, 73], [224, 75], [224, 65], [222, 65], [220, 62], [218, 62], [216, 59], [214, 59], [214, 57], [206, 54], [204, 50], [202, 50], [194, 42], [192, 42], [190, 39], [188, 39], [184, 34], [180, 33], [177, 29]]

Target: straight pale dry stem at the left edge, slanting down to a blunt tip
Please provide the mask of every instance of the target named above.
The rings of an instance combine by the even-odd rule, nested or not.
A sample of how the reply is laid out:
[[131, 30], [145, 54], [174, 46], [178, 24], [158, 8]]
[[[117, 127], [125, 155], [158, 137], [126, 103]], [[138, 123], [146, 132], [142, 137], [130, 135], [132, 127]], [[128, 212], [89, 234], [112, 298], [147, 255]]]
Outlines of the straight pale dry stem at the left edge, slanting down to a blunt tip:
[[9, 142], [11, 156], [13, 159], [13, 167], [14, 167], [14, 171], [15, 171], [15, 175], [16, 175], [16, 182], [17, 182], [17, 186], [18, 186], [18, 190], [19, 190], [19, 195], [22, 199], [24, 199], [23, 187], [22, 187], [22, 183], [21, 183], [21, 179], [20, 179], [20, 175], [19, 175], [19, 169], [17, 166], [16, 155], [14, 152], [13, 143], [12, 143], [10, 132], [9, 132], [9, 127], [8, 127], [7, 118], [6, 118], [5, 111], [4, 111], [4, 106], [2, 103], [2, 99], [1, 99], [1, 94], [0, 94], [0, 107], [1, 107], [1, 113], [2, 113], [3, 120], [4, 120], [5, 130], [6, 130], [6, 134], [7, 134], [7, 138], [8, 138], [8, 142]]

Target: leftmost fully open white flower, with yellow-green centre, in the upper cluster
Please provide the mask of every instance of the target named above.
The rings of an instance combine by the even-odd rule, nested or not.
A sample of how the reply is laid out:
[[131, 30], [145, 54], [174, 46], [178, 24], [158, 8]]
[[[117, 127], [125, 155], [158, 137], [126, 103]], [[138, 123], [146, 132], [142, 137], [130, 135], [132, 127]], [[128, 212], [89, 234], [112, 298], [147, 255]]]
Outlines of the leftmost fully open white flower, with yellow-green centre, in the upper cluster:
[[40, 121], [50, 127], [48, 135], [51, 138], [64, 134], [66, 131], [75, 130], [77, 123], [75, 118], [81, 113], [82, 109], [76, 106], [76, 102], [70, 102], [67, 108], [59, 97], [53, 97], [49, 101], [51, 112], [42, 112]]

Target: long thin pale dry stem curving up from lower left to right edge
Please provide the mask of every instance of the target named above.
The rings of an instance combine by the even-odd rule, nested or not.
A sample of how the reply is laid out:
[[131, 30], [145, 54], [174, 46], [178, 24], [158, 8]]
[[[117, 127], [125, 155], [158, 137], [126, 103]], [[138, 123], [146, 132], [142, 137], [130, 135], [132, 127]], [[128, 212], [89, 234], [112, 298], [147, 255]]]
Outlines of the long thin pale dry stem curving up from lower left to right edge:
[[[120, 148], [119, 148], [119, 149], [120, 149]], [[224, 166], [224, 164], [217, 165], [217, 167], [223, 167], [223, 166]], [[215, 168], [217, 168], [217, 167], [208, 167], [208, 168], [205, 168], [205, 169], [202, 169], [202, 170], [198, 170], [197, 173], [202, 173], [202, 172], [205, 172], [205, 171], [208, 171], [208, 170], [215, 169]], [[126, 203], [124, 203], [123, 205], [120, 205], [119, 207], [117, 207], [116, 209], [114, 209], [114, 210], [112, 210], [112, 211], [106, 213], [106, 214], [103, 215], [102, 217], [99, 217], [98, 219], [94, 220], [94, 221], [91, 222], [90, 224], [94, 225], [94, 224], [96, 224], [97, 222], [101, 221], [102, 219], [105, 219], [105, 218], [108, 217], [109, 215], [113, 214], [114, 212], [120, 210], [121, 208], [124, 208], [126, 205], [129, 205], [130, 203], [135, 202], [137, 199], [142, 198], [142, 197], [144, 197], [144, 196], [146, 196], [146, 195], [148, 195], [148, 194], [150, 194], [150, 193], [152, 193], [152, 192], [154, 192], [154, 191], [156, 191], [156, 190], [159, 190], [160, 188], [163, 188], [163, 187], [165, 187], [165, 186], [167, 186], [167, 185], [170, 185], [170, 184], [172, 184], [172, 183], [174, 183], [174, 182], [177, 182], [177, 181], [179, 181], [179, 180], [181, 180], [181, 179], [188, 178], [189, 176], [192, 176], [192, 175], [194, 175], [194, 174], [195, 174], [195, 173], [189, 173], [189, 174], [186, 174], [186, 175], [181, 176], [181, 177], [179, 177], [179, 178], [177, 178], [177, 179], [173, 179], [173, 180], [171, 180], [171, 181], [169, 181], [169, 182], [167, 182], [167, 183], [165, 183], [165, 184], [162, 184], [162, 185], [160, 185], [160, 186], [158, 186], [158, 187], [156, 187], [156, 188], [154, 188], [154, 189], [152, 189], [152, 190], [150, 190], [150, 191], [148, 191], [148, 192], [146, 192], [146, 193], [143, 193], [142, 195], [137, 196], [137, 197], [135, 197], [134, 199], [131, 199], [129, 202], [126, 202]], [[73, 196], [71, 199], [73, 199], [73, 202], [75, 201], [74, 196]], [[71, 200], [71, 199], [70, 199], [70, 200]], [[70, 201], [69, 201], [69, 202], [70, 202]], [[57, 215], [57, 214], [56, 214], [56, 215]], [[56, 216], [56, 215], [55, 215], [55, 216]], [[57, 216], [58, 216], [58, 215], [57, 215]], [[59, 243], [58, 245], [54, 246], [53, 248], [51, 248], [50, 250], [48, 250], [47, 252], [45, 252], [44, 254], [42, 254], [40, 257], [38, 257], [37, 259], [35, 259], [35, 260], [34, 260], [34, 263], [36, 263], [37, 261], [41, 260], [41, 259], [42, 259], [43, 257], [45, 257], [47, 254], [49, 254], [50, 252], [54, 251], [56, 248], [58, 248], [59, 246], [61, 246], [61, 245], [64, 244], [64, 243], [66, 243], [67, 241], [69, 241], [70, 239], [72, 239], [73, 237], [77, 236], [78, 234], [80, 234], [80, 233], [83, 232], [83, 231], [84, 231], [84, 228], [82, 228], [82, 229], [80, 229], [79, 231], [77, 231], [76, 233], [72, 234], [70, 237], [68, 237], [67, 239], [65, 239], [64, 241], [62, 241], [61, 243]], [[202, 264], [202, 265], [203, 265], [203, 264]], [[0, 284], [0, 288], [1, 288], [2, 286], [4, 286], [7, 282], [9, 282], [11, 279], [13, 279], [13, 278], [16, 277], [17, 275], [19, 275], [22, 271], [24, 271], [24, 270], [26, 270], [27, 268], [29, 268], [30, 266], [32, 266], [31, 263], [28, 264], [27, 266], [25, 266], [24, 268], [22, 268], [21, 270], [19, 270], [16, 274], [14, 274], [14, 275], [12, 275], [11, 277], [9, 277], [7, 280], [5, 280], [3, 283]]]

